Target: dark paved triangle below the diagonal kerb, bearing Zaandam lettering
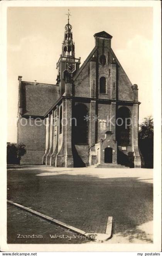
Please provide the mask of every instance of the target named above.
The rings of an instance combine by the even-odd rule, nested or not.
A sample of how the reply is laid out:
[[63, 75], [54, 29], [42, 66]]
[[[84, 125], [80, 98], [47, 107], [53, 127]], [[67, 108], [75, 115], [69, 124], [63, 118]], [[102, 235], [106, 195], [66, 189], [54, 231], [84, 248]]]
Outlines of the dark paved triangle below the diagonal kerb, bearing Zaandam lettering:
[[[84, 238], [78, 239], [76, 238], [78, 234], [10, 204], [7, 205], [7, 231], [9, 244], [76, 244], [90, 241]], [[42, 238], [18, 238], [19, 234], [42, 236]], [[50, 235], [55, 238], [51, 238]], [[56, 236], [63, 237], [56, 238]]]

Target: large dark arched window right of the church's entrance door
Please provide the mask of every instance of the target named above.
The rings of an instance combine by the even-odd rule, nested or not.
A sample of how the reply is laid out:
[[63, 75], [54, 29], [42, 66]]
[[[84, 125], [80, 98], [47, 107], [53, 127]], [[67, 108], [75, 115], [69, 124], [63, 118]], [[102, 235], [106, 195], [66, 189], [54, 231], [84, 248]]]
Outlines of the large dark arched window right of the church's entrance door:
[[118, 146], [130, 145], [130, 110], [120, 107], [116, 115], [116, 138]]

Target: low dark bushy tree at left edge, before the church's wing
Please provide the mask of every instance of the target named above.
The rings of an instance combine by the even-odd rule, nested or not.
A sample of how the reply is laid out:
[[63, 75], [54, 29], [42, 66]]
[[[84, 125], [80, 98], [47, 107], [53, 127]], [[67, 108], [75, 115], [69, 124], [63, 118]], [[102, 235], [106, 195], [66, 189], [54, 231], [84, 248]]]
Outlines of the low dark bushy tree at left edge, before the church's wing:
[[19, 164], [21, 156], [24, 156], [26, 153], [24, 144], [7, 144], [7, 164]]

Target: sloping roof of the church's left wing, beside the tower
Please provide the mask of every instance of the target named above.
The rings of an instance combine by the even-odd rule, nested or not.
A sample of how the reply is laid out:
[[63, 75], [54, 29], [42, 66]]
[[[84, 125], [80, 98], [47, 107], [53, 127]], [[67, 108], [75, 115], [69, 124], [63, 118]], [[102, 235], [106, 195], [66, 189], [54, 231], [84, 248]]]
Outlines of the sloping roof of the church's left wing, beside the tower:
[[43, 116], [59, 97], [57, 85], [22, 81], [22, 115]]

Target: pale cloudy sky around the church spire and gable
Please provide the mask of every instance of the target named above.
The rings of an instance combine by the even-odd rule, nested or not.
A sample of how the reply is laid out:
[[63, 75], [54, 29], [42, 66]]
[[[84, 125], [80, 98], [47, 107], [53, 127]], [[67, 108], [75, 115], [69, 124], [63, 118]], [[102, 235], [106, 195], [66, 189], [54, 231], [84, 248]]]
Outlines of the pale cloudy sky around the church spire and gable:
[[153, 114], [152, 7], [8, 7], [7, 141], [17, 141], [18, 76], [23, 81], [56, 84], [68, 8], [75, 56], [81, 64], [93, 35], [108, 32], [111, 47], [130, 81], [138, 85], [139, 119]]

